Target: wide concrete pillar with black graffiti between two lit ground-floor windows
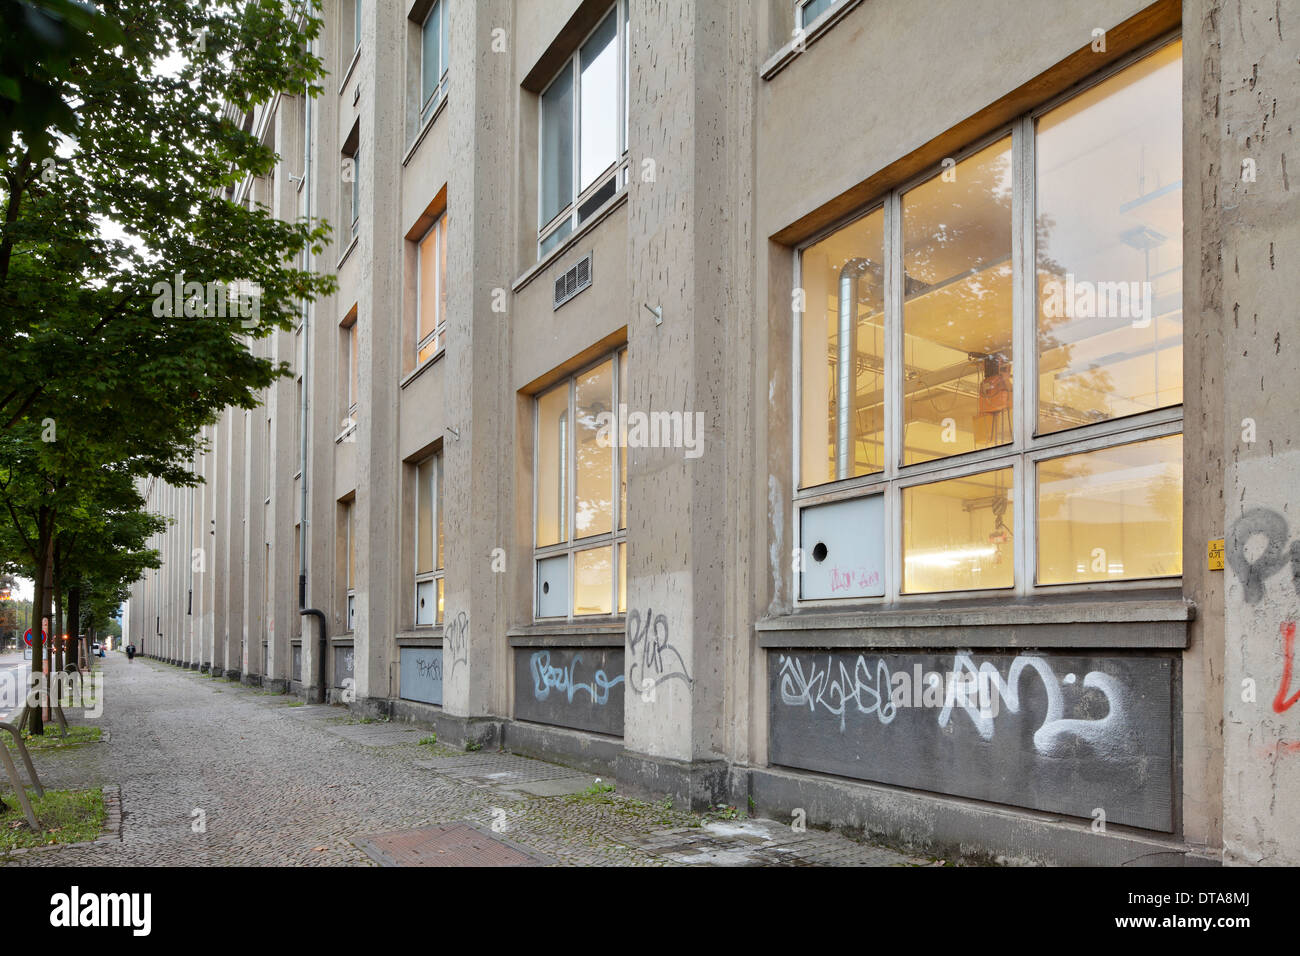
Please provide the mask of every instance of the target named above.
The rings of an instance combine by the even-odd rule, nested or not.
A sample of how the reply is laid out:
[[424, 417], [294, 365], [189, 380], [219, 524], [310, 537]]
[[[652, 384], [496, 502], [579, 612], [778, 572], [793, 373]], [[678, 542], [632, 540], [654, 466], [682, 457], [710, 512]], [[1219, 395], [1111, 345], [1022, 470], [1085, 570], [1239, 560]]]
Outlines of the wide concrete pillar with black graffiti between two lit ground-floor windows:
[[[618, 775], [696, 806], [722, 799], [725, 786], [729, 13], [731, 4], [698, 0], [632, 5], [628, 406], [692, 421], [699, 412], [703, 433], [698, 458], [684, 447], [628, 450], [627, 753]], [[641, 303], [663, 310], [662, 325]]]

